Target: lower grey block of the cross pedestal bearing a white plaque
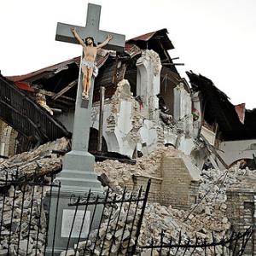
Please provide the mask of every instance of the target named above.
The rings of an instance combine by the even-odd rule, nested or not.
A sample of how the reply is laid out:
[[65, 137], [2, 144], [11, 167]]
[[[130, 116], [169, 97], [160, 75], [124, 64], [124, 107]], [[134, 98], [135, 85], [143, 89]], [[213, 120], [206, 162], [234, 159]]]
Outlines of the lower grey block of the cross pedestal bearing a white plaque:
[[[79, 213], [77, 212], [76, 219], [79, 218], [79, 223], [75, 224], [73, 230], [76, 230], [76, 234], [70, 236], [70, 230], [66, 232], [63, 231], [63, 227], [71, 227], [73, 223], [73, 217], [67, 218], [65, 217], [64, 211], [73, 212], [75, 213], [76, 207], [68, 207], [70, 201], [70, 196], [81, 196], [84, 198], [84, 193], [78, 191], [73, 191], [73, 194], [70, 191], [66, 191], [65, 189], [61, 189], [60, 194], [57, 193], [57, 189], [53, 189], [49, 198], [50, 201], [50, 211], [49, 211], [49, 229], [48, 229], [48, 236], [47, 236], [47, 247], [45, 250], [46, 256], [59, 256], [61, 252], [67, 250], [67, 243], [68, 248], [74, 248], [75, 244], [78, 244], [79, 241], [84, 241], [88, 236], [81, 236], [79, 239], [79, 230], [81, 229], [82, 225], [82, 218], [79, 218]], [[87, 191], [88, 192], [88, 191]], [[97, 195], [97, 194], [96, 194]], [[102, 196], [102, 194], [100, 195]], [[84, 210], [86, 206], [78, 207], [78, 211], [82, 212], [82, 216], [84, 216]], [[95, 211], [96, 207], [96, 211]], [[86, 208], [86, 215], [89, 214], [89, 219], [84, 219], [84, 224], [86, 225], [86, 229], [96, 230], [99, 228], [100, 220], [102, 218], [102, 210], [103, 206], [98, 205], [89, 205]], [[95, 214], [93, 215], [93, 212]], [[80, 213], [81, 216], [81, 213]], [[92, 219], [93, 218], [93, 219]], [[92, 222], [92, 224], [90, 224]], [[70, 238], [69, 238], [70, 236]]]

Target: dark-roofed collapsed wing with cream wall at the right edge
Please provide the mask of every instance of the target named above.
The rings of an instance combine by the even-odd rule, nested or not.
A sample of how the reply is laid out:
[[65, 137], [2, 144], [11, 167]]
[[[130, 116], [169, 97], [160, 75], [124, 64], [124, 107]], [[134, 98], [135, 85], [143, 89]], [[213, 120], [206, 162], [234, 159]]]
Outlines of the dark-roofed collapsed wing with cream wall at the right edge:
[[187, 74], [194, 95], [201, 98], [194, 105], [193, 112], [199, 113], [195, 122], [202, 120], [201, 135], [217, 150], [212, 150], [217, 166], [228, 169], [240, 162], [241, 167], [255, 170], [255, 108], [248, 110], [245, 103], [234, 106], [210, 79], [192, 72]]

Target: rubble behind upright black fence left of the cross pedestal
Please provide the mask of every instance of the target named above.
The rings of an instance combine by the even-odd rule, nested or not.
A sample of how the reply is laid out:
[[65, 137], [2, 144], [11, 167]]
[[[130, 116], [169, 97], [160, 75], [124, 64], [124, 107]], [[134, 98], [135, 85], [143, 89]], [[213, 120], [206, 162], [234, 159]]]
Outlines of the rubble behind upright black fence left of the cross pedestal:
[[1, 255], [44, 255], [47, 224], [42, 189], [11, 185], [0, 195]]

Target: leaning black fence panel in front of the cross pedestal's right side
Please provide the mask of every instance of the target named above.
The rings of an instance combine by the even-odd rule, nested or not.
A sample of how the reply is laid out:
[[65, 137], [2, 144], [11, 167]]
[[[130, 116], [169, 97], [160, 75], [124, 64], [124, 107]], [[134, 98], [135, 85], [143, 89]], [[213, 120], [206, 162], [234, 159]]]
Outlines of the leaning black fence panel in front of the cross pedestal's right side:
[[[137, 241], [143, 223], [143, 214], [148, 201], [150, 180], [147, 188], [143, 187], [137, 192], [127, 192], [126, 189], [113, 193], [111, 189], [105, 192], [104, 197], [96, 197], [89, 191], [84, 198], [72, 198], [69, 207], [75, 207], [75, 213], [71, 230], [69, 233], [67, 248], [72, 237], [74, 224], [78, 216], [78, 209], [84, 207], [83, 217], [80, 218], [80, 229], [76, 230], [79, 236], [74, 247], [74, 254], [79, 255], [134, 255], [137, 249]], [[86, 212], [88, 207], [94, 206], [91, 212], [90, 222], [86, 233], [86, 239], [81, 235], [86, 222]], [[95, 220], [96, 212], [102, 212], [98, 229], [93, 230], [92, 224]], [[67, 254], [67, 251], [66, 251]]]

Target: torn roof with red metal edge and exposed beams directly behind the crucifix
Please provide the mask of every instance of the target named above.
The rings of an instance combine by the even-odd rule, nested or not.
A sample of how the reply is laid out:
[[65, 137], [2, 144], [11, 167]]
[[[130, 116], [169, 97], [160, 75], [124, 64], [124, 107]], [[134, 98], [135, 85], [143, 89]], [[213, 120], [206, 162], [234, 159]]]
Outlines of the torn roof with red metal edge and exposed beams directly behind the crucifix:
[[[137, 73], [136, 61], [142, 55], [142, 49], [153, 49], [160, 55], [164, 65], [163, 73], [172, 73], [176, 79], [180, 79], [175, 63], [168, 54], [169, 49], [174, 49], [171, 40], [167, 36], [167, 30], [161, 29], [150, 32], [137, 38], [128, 40], [122, 53], [100, 53], [96, 57], [97, 66], [101, 67], [95, 80], [94, 99], [99, 100], [99, 88], [106, 88], [105, 95], [110, 97], [116, 90], [116, 85], [122, 79], [129, 79], [131, 91], [136, 96]], [[103, 65], [104, 64], [104, 65]], [[36, 89], [45, 91], [47, 102], [51, 108], [60, 108], [62, 111], [74, 108], [76, 90], [79, 77], [80, 57], [40, 69], [36, 72], [21, 76], [8, 77], [21, 90], [34, 92]], [[133, 84], [133, 86], [132, 86]]]

